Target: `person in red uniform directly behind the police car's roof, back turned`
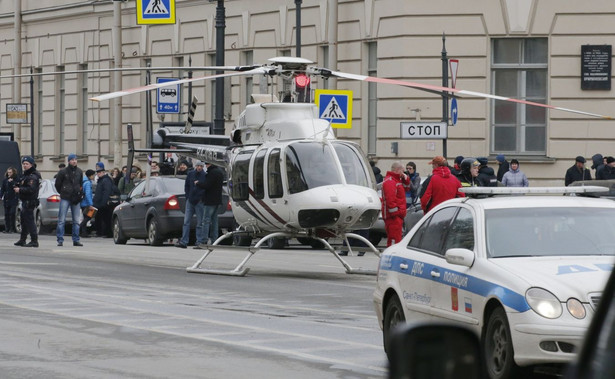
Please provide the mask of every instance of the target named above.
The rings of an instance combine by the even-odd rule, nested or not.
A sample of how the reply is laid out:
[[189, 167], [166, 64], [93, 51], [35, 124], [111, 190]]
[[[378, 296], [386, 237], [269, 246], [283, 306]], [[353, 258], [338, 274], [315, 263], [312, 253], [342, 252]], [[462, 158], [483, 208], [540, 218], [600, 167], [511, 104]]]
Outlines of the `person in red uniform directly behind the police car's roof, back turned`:
[[423, 183], [425, 192], [421, 196], [421, 208], [425, 214], [446, 200], [465, 197], [463, 192], [459, 192], [461, 182], [451, 174], [443, 156], [438, 155], [429, 163], [433, 167], [433, 174]]

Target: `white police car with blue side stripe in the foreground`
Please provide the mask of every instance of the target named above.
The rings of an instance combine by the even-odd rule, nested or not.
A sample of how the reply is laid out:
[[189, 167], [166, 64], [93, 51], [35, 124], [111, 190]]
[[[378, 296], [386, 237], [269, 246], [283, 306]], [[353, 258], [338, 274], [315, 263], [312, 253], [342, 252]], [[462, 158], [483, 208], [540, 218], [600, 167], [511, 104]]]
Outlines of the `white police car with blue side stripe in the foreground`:
[[398, 323], [453, 321], [490, 378], [572, 360], [615, 262], [615, 202], [562, 193], [600, 190], [474, 187], [435, 207], [381, 255], [385, 350]]

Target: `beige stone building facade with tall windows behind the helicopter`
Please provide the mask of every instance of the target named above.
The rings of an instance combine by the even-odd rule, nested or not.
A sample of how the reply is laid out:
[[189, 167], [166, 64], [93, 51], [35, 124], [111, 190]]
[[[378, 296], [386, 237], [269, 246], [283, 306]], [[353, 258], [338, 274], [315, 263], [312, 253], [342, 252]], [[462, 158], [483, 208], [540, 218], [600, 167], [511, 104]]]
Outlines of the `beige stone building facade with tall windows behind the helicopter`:
[[[210, 75], [200, 67], [216, 62], [217, 2], [175, 3], [175, 24], [139, 25], [135, 1], [0, 2], [0, 132], [13, 133], [23, 154], [33, 148], [47, 177], [71, 152], [82, 167], [99, 160], [121, 167], [126, 124], [135, 128], [137, 147], [149, 140], [148, 95], [127, 96], [117, 104], [89, 101], [120, 89], [114, 88], [115, 74], [102, 69], [115, 68], [116, 62], [123, 69], [168, 68], [152, 71], [155, 81]], [[226, 65], [296, 55], [295, 1], [226, 0], [224, 6]], [[114, 19], [114, 12], [121, 16]], [[607, 86], [612, 25], [615, 2], [608, 0], [303, 0], [301, 56], [338, 71], [441, 85], [444, 35], [448, 57], [459, 61], [456, 88], [615, 116], [615, 92]], [[597, 52], [591, 55], [591, 49]], [[115, 51], [121, 51], [118, 60]], [[9, 77], [31, 70], [45, 75]], [[121, 71], [120, 87], [141, 86], [147, 77], [145, 71]], [[600, 83], [588, 89], [592, 81]], [[196, 82], [190, 89], [199, 99], [195, 120], [212, 121], [216, 101], [224, 101], [228, 132], [251, 93], [280, 86], [261, 77], [234, 77], [225, 80], [224, 99], [216, 99], [214, 82]], [[440, 96], [342, 79], [316, 80], [312, 88], [353, 91], [352, 128], [336, 134], [360, 143], [383, 171], [395, 160], [411, 160], [426, 176], [427, 162], [443, 154], [442, 140], [400, 138], [401, 122], [442, 119]], [[162, 119], [186, 119], [188, 91], [184, 85], [180, 114], [156, 114], [156, 96], [150, 96], [153, 130]], [[33, 128], [7, 123], [6, 104], [30, 104], [31, 98]], [[588, 161], [595, 153], [615, 156], [613, 120], [480, 97], [457, 103], [458, 121], [448, 127], [446, 140], [451, 160], [487, 156], [494, 162], [495, 155], [504, 154], [521, 162], [530, 185], [562, 185], [576, 156]]]

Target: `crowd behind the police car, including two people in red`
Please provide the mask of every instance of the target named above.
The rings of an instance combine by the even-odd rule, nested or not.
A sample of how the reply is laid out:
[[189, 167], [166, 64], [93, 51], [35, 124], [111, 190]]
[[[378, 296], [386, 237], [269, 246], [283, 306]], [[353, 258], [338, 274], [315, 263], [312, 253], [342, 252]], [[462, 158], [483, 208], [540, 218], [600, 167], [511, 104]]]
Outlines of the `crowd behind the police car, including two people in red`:
[[[429, 164], [431, 175], [421, 185], [416, 164], [408, 162], [406, 170], [400, 162], [393, 162], [384, 178], [374, 162], [370, 162], [376, 181], [382, 183], [382, 217], [387, 233], [387, 246], [399, 242], [407, 210], [420, 199], [423, 213], [436, 205], [456, 197], [464, 197], [462, 187], [528, 187], [529, 180], [520, 169], [519, 160], [510, 162], [502, 154], [496, 156], [497, 172], [489, 167], [486, 157], [472, 158], [457, 156], [453, 166], [443, 156], [434, 157]], [[586, 159], [578, 156], [575, 164], [565, 174], [566, 186], [576, 181], [592, 180], [592, 174], [585, 168]], [[591, 169], [596, 180], [615, 179], [615, 158], [595, 154]], [[419, 193], [420, 191], [420, 193]]]

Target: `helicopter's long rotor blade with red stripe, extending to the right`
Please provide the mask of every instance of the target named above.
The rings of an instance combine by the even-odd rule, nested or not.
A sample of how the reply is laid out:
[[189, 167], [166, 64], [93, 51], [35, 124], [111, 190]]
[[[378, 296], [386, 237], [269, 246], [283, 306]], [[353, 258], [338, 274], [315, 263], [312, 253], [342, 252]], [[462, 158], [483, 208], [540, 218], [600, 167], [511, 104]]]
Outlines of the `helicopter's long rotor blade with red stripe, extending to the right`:
[[421, 90], [421, 91], [437, 93], [438, 95], [444, 95], [444, 96], [449, 96], [449, 97], [450, 97], [450, 95], [447, 94], [447, 92], [452, 93], [453, 96], [455, 96], [455, 95], [456, 96], [466, 95], [466, 96], [473, 96], [473, 97], [482, 97], [482, 98], [486, 98], [486, 99], [510, 101], [510, 102], [513, 102], [513, 103], [532, 105], [532, 106], [535, 106], [535, 107], [541, 107], [541, 108], [547, 108], [547, 109], [555, 109], [555, 110], [559, 110], [559, 111], [563, 111], [563, 112], [571, 112], [571, 113], [576, 113], [576, 114], [582, 114], [582, 115], [585, 115], [585, 116], [597, 117], [597, 118], [602, 118], [602, 119], [606, 119], [606, 120], [612, 120], [613, 119], [610, 116], [605, 116], [605, 115], [601, 115], [601, 114], [597, 114], [597, 113], [584, 112], [584, 111], [580, 111], [580, 110], [576, 110], [576, 109], [556, 107], [556, 106], [550, 105], [550, 104], [542, 104], [542, 103], [536, 103], [536, 102], [533, 102], [533, 101], [515, 99], [515, 98], [512, 98], [512, 97], [497, 96], [497, 95], [491, 95], [489, 93], [467, 91], [467, 90], [462, 90], [462, 89], [457, 89], [457, 88], [442, 87], [442, 86], [436, 86], [436, 85], [425, 84], [425, 83], [410, 82], [410, 81], [398, 80], [398, 79], [377, 78], [377, 77], [373, 77], [373, 76], [349, 74], [349, 73], [346, 73], [346, 72], [330, 71], [330, 70], [322, 70], [321, 75], [323, 75], [323, 76], [335, 76], [335, 77], [338, 77], [338, 78], [359, 80], [359, 81], [372, 82], [372, 83], [393, 84], [393, 85], [398, 85], [398, 86], [415, 88], [415, 89], [418, 89], [418, 90]]

